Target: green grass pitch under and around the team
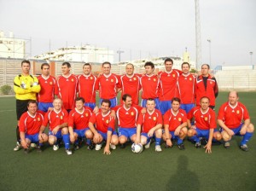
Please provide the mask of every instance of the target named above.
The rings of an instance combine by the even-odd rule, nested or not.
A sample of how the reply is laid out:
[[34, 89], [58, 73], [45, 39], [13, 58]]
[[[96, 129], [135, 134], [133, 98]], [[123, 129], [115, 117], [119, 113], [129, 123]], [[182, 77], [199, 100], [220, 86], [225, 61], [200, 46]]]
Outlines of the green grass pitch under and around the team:
[[[256, 124], [256, 92], [240, 93]], [[227, 100], [221, 92], [217, 108]], [[212, 153], [196, 149], [185, 141], [177, 147], [154, 152], [153, 145], [143, 153], [132, 153], [131, 145], [119, 147], [107, 156], [102, 150], [85, 147], [67, 156], [64, 148], [43, 153], [14, 152], [15, 98], [0, 98], [0, 190], [256, 190], [256, 138], [249, 151], [238, 148], [241, 137], [231, 148], [213, 146]]]

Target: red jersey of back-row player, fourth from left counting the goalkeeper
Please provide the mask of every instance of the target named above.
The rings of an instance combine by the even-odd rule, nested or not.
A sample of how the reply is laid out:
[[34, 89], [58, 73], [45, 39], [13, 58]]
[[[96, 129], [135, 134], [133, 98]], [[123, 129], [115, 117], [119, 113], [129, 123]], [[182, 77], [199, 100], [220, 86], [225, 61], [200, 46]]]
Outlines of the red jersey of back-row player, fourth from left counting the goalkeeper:
[[92, 74], [79, 75], [79, 97], [83, 97], [86, 103], [96, 102], [96, 77]]

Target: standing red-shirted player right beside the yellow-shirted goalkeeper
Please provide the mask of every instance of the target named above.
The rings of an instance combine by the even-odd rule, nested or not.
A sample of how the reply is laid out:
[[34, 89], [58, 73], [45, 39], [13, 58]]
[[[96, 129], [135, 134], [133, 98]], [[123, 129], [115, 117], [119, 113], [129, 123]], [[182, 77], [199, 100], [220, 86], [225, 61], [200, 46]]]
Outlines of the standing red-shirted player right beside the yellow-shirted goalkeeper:
[[38, 110], [46, 113], [49, 107], [53, 107], [55, 99], [55, 78], [49, 75], [49, 64], [41, 65], [42, 74], [38, 76], [41, 90], [38, 93]]

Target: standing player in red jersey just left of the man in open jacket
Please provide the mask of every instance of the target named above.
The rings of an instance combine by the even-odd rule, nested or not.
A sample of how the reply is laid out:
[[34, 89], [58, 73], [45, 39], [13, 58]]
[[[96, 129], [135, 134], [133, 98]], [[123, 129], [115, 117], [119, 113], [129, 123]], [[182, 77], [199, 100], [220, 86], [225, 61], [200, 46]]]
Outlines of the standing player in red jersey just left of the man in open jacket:
[[195, 107], [195, 76], [189, 73], [190, 65], [183, 62], [183, 73], [177, 78], [177, 96], [181, 100], [181, 106], [186, 113]]

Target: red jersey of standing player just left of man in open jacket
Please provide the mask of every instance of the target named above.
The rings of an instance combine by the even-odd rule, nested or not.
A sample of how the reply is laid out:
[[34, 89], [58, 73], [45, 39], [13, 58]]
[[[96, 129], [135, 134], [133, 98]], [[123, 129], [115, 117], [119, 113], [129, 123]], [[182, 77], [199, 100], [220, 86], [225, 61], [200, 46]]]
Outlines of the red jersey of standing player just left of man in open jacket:
[[177, 97], [183, 104], [195, 103], [195, 76], [182, 74], [177, 78]]

